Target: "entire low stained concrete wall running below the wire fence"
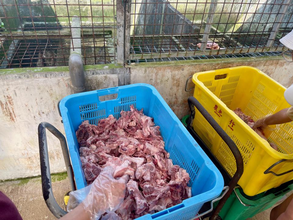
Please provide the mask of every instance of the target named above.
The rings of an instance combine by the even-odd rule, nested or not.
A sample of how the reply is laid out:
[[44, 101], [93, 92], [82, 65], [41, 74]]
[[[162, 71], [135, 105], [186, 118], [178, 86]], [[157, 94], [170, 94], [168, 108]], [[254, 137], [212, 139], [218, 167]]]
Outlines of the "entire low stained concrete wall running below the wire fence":
[[[118, 86], [118, 73], [130, 71], [130, 82], [154, 85], [175, 114], [188, 113], [184, 91], [188, 76], [199, 71], [249, 65], [284, 86], [293, 83], [293, 63], [281, 57], [235, 58], [144, 63], [129, 69], [110, 65], [85, 66], [87, 89]], [[192, 83], [189, 83], [192, 86]], [[6, 69], [0, 71], [0, 180], [40, 174], [37, 127], [47, 121], [63, 134], [57, 102], [71, 94], [67, 67]], [[48, 134], [51, 172], [65, 171], [60, 143]]]

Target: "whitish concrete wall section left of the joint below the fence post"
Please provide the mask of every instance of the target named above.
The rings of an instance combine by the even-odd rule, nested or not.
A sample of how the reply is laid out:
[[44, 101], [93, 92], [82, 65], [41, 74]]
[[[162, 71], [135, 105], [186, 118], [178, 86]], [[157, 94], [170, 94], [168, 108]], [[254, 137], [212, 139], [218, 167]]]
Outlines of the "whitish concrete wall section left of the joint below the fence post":
[[[118, 86], [113, 68], [85, 74], [87, 90]], [[38, 124], [65, 134], [57, 103], [73, 93], [68, 67], [1, 70], [0, 88], [0, 180], [39, 175]], [[51, 172], [65, 171], [60, 142], [50, 132], [47, 139]]]

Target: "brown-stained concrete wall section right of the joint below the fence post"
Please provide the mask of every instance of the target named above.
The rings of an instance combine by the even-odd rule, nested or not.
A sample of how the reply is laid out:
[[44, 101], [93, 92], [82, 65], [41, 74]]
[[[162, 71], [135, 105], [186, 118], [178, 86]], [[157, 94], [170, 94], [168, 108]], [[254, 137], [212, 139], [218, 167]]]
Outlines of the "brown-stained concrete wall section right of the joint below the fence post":
[[[181, 119], [188, 114], [187, 98], [193, 95], [185, 92], [186, 79], [194, 73], [234, 66], [252, 66], [288, 87], [293, 83], [293, 63], [281, 57], [233, 58], [161, 63], [141, 63], [130, 68], [131, 83], [144, 82], [157, 88], [168, 105]], [[193, 87], [189, 82], [189, 87]]]

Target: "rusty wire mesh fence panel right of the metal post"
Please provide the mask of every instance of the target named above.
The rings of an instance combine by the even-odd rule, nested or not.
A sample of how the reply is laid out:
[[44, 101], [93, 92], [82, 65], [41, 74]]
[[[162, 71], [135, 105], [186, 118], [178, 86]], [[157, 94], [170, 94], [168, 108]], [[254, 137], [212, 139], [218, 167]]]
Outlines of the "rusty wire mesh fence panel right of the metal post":
[[130, 59], [281, 51], [292, 0], [132, 0]]

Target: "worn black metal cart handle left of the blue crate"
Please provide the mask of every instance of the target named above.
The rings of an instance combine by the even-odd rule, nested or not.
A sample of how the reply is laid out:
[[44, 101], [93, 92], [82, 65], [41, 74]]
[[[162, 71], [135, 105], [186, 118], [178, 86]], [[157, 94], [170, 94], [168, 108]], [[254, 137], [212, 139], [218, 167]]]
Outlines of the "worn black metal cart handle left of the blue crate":
[[67, 175], [69, 182], [71, 184], [71, 189], [75, 190], [75, 184], [73, 180], [73, 171], [69, 159], [69, 153], [67, 149], [66, 139], [59, 130], [47, 122], [41, 122], [38, 126], [38, 138], [39, 138], [39, 150], [40, 150], [40, 163], [41, 163], [41, 176], [42, 176], [42, 190], [44, 200], [56, 218], [61, 218], [63, 215], [67, 214], [56, 202], [56, 199], [52, 191], [52, 181], [50, 174], [50, 164], [49, 164], [49, 154], [47, 145], [46, 128], [54, 134], [56, 138], [59, 139], [62, 153], [66, 165]]

